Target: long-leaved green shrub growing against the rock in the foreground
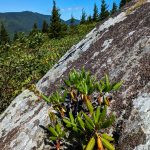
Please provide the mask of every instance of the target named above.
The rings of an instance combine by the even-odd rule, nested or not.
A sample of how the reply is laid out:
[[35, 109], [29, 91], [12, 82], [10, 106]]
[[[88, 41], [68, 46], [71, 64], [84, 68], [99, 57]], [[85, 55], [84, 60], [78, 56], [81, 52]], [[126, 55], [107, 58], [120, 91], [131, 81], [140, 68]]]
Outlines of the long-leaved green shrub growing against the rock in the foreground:
[[122, 81], [110, 83], [107, 75], [97, 81], [84, 69], [80, 72], [72, 70], [60, 90], [50, 97], [38, 95], [51, 106], [51, 123], [47, 127], [40, 125], [51, 146], [56, 150], [64, 147], [115, 150], [115, 138], [106, 132], [115, 121], [114, 114], [107, 111], [112, 100], [108, 93], [117, 91], [121, 85]]

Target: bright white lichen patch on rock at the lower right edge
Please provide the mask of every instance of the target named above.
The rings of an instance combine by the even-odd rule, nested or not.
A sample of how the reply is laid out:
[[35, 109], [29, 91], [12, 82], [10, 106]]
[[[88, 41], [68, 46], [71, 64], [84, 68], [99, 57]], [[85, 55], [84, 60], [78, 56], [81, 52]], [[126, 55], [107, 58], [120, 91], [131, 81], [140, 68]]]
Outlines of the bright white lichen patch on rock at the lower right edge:
[[135, 150], [149, 150], [150, 148], [150, 93], [144, 93], [139, 95], [137, 99], [133, 101], [133, 106], [137, 110], [141, 121], [138, 125], [142, 128], [146, 134], [146, 144], [141, 144], [135, 148]]

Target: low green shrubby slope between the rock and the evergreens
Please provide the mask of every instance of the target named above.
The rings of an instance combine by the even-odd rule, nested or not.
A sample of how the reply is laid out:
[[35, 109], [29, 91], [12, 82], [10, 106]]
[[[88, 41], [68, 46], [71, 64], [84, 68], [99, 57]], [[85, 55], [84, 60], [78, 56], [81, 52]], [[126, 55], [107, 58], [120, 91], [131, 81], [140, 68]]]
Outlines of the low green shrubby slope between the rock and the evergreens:
[[0, 112], [24, 88], [36, 83], [58, 60], [78, 43], [95, 23], [76, 26], [77, 33], [61, 39], [49, 39], [47, 33], [40, 31], [27, 36], [17, 33], [11, 43], [0, 45]]

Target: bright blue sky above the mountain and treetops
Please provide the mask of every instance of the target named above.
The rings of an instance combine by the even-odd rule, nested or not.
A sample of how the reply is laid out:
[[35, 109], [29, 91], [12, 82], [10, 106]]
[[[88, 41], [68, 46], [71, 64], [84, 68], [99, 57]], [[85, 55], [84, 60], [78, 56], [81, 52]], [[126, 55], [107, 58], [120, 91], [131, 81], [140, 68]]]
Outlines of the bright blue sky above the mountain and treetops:
[[[119, 1], [106, 0], [109, 9], [113, 2], [119, 4]], [[50, 15], [52, 2], [52, 0], [0, 0], [0, 12], [33, 11]], [[88, 15], [92, 15], [94, 3], [100, 7], [101, 0], [56, 0], [56, 3], [60, 9], [61, 18], [67, 20], [70, 19], [71, 14], [80, 19], [83, 8]]]

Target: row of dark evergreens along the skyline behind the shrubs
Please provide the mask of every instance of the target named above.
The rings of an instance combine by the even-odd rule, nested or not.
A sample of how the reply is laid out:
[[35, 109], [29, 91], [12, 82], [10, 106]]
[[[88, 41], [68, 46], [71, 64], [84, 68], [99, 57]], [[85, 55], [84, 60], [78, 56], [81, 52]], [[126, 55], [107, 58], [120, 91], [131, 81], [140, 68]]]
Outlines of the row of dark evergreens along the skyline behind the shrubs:
[[[108, 10], [108, 5], [105, 0], [101, 0], [100, 11], [96, 3], [93, 8], [93, 15], [87, 16], [84, 9], [82, 9], [82, 15], [80, 24], [88, 24], [92, 22], [103, 21], [107, 17], [115, 14], [122, 8], [127, 2], [131, 0], [121, 0], [119, 7], [115, 2], [113, 2], [112, 9]], [[100, 12], [100, 13], [99, 13]], [[56, 6], [55, 0], [53, 0], [53, 9], [51, 12], [50, 24], [48, 24], [45, 20], [43, 21], [42, 29], [39, 30], [37, 24], [33, 25], [32, 31], [29, 33], [29, 36], [34, 35], [38, 31], [47, 33], [50, 38], [61, 38], [63, 37], [69, 30], [69, 33], [74, 34], [77, 32], [76, 22], [73, 15], [71, 15], [69, 27], [66, 25], [60, 18], [60, 10]], [[69, 29], [68, 29], [69, 28]], [[14, 33], [14, 40], [18, 38], [18, 34]], [[0, 26], [0, 44], [6, 44], [10, 42], [10, 37], [3, 23]]]

